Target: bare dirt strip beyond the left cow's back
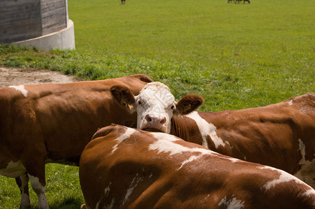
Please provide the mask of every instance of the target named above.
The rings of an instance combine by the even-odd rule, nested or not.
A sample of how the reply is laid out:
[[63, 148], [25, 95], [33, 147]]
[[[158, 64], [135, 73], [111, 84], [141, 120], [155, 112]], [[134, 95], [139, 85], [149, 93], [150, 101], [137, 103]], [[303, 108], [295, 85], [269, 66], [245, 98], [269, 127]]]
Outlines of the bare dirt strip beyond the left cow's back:
[[25, 70], [17, 68], [3, 68], [0, 66], [0, 88], [21, 84], [47, 84], [77, 82], [73, 76], [66, 76], [60, 72], [48, 70]]

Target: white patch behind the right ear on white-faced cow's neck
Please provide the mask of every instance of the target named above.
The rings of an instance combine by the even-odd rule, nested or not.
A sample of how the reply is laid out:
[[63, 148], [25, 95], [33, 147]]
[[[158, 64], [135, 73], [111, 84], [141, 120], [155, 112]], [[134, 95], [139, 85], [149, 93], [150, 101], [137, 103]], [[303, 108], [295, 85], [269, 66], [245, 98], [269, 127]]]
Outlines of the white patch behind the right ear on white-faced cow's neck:
[[201, 136], [203, 137], [203, 146], [205, 148], [209, 148], [207, 144], [208, 135], [210, 135], [215, 148], [219, 148], [219, 146], [225, 147], [226, 145], [232, 148], [228, 141], [223, 141], [220, 137], [218, 137], [217, 127], [215, 127], [212, 123], [208, 123], [207, 121], [205, 121], [205, 119], [201, 118], [197, 111], [193, 111], [190, 114], [187, 114], [186, 116], [196, 121]]

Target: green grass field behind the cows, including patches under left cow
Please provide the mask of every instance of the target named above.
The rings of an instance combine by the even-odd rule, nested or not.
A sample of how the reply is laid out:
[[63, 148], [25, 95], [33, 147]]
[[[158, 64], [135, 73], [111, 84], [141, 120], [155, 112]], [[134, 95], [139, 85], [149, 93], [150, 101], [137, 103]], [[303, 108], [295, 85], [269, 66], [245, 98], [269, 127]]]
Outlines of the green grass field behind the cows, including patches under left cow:
[[[200, 110], [259, 107], [315, 93], [314, 10], [307, 0], [68, 0], [74, 52], [1, 46], [0, 65], [82, 79], [144, 73], [177, 99], [202, 95]], [[15, 180], [0, 185], [0, 208], [17, 207]], [[47, 165], [47, 199], [51, 208], [80, 207], [78, 168]]]

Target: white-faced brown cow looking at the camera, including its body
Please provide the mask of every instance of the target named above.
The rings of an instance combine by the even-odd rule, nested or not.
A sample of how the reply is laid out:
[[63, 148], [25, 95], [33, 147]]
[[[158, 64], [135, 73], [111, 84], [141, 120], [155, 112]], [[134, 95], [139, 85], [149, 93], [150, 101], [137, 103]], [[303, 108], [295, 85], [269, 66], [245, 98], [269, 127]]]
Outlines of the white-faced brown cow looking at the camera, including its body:
[[182, 100], [176, 103], [159, 82], [147, 84], [136, 97], [124, 92], [135, 98], [130, 105], [138, 113], [138, 129], [170, 133], [223, 155], [276, 167], [315, 188], [314, 94], [267, 107], [198, 112], [192, 110], [202, 98], [186, 95], [177, 108]]

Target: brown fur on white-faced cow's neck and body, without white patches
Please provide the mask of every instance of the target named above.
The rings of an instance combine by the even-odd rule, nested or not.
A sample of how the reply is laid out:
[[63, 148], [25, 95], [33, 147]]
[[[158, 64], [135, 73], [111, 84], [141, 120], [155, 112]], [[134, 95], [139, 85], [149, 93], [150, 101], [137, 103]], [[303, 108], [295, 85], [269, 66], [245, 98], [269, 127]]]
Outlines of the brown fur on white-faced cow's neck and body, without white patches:
[[[292, 105], [288, 102], [292, 101]], [[302, 155], [299, 139], [305, 144], [305, 160], [315, 154], [315, 95], [306, 94], [266, 107], [235, 111], [198, 112], [216, 128], [217, 136], [230, 144], [216, 148], [211, 137], [208, 148], [249, 162], [269, 165], [295, 174]], [[172, 118], [171, 134], [202, 144], [196, 121], [186, 116]], [[314, 176], [314, 168], [312, 169]], [[314, 180], [308, 182], [315, 186]]]

